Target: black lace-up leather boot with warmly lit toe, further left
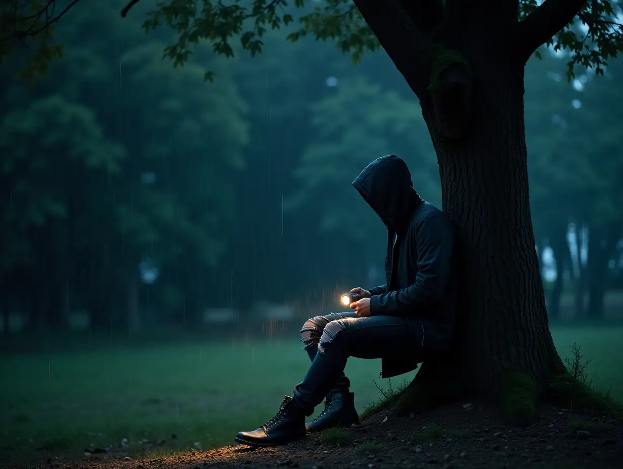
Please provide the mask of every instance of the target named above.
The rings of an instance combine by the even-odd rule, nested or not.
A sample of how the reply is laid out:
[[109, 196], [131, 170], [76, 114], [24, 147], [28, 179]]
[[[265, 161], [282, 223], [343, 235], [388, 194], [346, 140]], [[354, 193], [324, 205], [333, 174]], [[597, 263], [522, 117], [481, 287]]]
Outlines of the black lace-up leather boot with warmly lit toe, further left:
[[234, 440], [242, 445], [269, 447], [285, 445], [305, 437], [305, 413], [284, 396], [277, 415], [252, 432], [240, 432]]

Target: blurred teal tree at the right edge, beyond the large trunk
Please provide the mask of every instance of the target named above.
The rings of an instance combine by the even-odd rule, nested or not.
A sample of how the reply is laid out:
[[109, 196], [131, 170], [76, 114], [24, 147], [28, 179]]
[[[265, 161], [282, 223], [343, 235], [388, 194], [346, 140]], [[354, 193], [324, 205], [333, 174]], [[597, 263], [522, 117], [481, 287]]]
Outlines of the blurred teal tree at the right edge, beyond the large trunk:
[[[578, 171], [580, 184], [573, 187], [573, 219], [587, 227], [586, 278], [578, 279], [578, 313], [600, 319], [604, 315], [604, 295], [608, 289], [611, 268], [616, 258], [617, 243], [623, 236], [621, 204], [623, 194], [623, 159], [621, 158], [620, 122], [623, 99], [619, 83], [623, 77], [621, 59], [613, 60], [606, 77], [588, 80], [583, 91], [576, 93], [575, 111], [570, 115], [564, 135], [552, 144], [565, 149], [566, 159], [583, 159], [587, 168]], [[585, 78], [583, 76], [581, 78]], [[564, 139], [564, 140], [563, 140]], [[578, 178], [578, 176], [576, 176]], [[586, 282], [584, 282], [586, 280]], [[588, 302], [584, 307], [584, 286]]]

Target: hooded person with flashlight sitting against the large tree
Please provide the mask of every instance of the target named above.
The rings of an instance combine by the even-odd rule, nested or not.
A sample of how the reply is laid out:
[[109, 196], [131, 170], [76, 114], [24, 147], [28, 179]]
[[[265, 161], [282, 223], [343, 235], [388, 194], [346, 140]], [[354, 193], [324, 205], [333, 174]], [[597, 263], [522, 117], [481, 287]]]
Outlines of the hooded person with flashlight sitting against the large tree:
[[[453, 267], [455, 236], [442, 211], [421, 199], [406, 163], [397, 156], [375, 159], [353, 181], [388, 229], [387, 283], [364, 290], [349, 313], [308, 320], [301, 331], [312, 365], [303, 382], [285, 396], [277, 415], [235, 441], [269, 447], [298, 440], [307, 431], [349, 426], [359, 417], [354, 408], [346, 360], [381, 358], [381, 376], [389, 378], [417, 368], [426, 353], [450, 348], [454, 338], [457, 281]], [[316, 405], [325, 410], [310, 424]]]

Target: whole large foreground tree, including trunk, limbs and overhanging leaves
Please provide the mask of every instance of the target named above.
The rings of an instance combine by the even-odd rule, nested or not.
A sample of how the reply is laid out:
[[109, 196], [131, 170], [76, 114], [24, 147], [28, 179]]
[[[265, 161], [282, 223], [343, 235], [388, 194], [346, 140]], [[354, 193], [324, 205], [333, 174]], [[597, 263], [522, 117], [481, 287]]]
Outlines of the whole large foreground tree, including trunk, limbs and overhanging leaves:
[[[229, 40], [239, 36], [256, 54], [267, 28], [293, 21], [285, 6], [176, 1], [160, 4], [145, 26], [178, 32], [165, 50], [175, 64], [186, 62], [200, 40], [231, 56]], [[576, 65], [602, 73], [623, 49], [620, 12], [614, 0], [327, 0], [290, 35], [335, 38], [355, 60], [383, 47], [419, 98], [437, 153], [443, 208], [459, 239], [461, 340], [454, 357], [422, 365], [396, 412], [461, 392], [501, 400], [509, 419], [526, 421], [536, 414], [537, 397], [560, 391], [549, 383], [571, 380], [549, 333], [535, 251], [523, 75], [544, 43], [571, 51], [568, 77]]]

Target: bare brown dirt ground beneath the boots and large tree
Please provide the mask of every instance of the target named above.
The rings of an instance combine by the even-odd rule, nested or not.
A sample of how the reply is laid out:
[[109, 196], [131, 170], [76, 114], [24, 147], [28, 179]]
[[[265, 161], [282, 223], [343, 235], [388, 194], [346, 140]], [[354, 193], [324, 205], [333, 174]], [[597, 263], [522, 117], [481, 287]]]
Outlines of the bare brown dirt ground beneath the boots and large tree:
[[330, 430], [285, 447], [252, 450], [231, 446], [152, 459], [131, 458], [123, 452], [87, 452], [78, 462], [49, 459], [40, 467], [614, 469], [623, 467], [623, 419], [544, 407], [537, 422], [518, 428], [502, 422], [497, 409], [489, 405], [457, 404], [426, 417], [386, 419], [384, 414], [374, 415], [359, 427]]

